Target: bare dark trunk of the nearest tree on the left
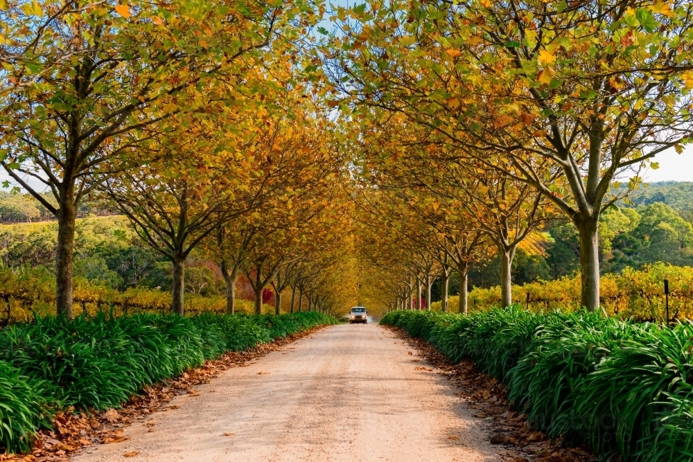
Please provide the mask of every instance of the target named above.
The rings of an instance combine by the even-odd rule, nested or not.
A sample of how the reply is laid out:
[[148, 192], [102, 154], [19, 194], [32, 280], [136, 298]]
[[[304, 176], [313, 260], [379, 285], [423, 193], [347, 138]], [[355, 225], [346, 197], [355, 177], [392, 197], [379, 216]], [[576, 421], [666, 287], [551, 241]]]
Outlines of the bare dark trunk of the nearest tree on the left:
[[72, 309], [72, 272], [75, 247], [75, 205], [73, 194], [67, 193], [58, 213], [58, 247], [55, 259], [55, 305], [58, 314], [67, 319], [74, 316]]

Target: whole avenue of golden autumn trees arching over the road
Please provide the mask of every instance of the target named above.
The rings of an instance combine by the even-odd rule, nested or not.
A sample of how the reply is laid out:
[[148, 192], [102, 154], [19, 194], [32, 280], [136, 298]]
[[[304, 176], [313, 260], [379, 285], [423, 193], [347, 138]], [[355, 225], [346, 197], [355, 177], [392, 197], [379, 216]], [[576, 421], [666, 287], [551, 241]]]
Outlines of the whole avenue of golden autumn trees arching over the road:
[[326, 8], [0, 0], [0, 164], [57, 220], [58, 313], [85, 203], [170, 264], [179, 314], [193, 255], [229, 314], [242, 274], [258, 313], [268, 287], [277, 313], [430, 308], [437, 280], [448, 310], [453, 276], [466, 313], [490, 258], [505, 307], [518, 249], [565, 225], [599, 308], [604, 214], [693, 136], [693, 4]]

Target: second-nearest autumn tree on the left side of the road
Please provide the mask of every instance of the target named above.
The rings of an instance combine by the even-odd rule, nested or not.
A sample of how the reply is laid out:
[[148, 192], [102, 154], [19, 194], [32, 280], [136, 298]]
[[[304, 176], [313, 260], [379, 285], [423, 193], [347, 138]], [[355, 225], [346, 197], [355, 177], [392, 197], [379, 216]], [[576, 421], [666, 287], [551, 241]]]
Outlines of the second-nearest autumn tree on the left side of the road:
[[186, 259], [220, 223], [252, 208], [256, 193], [245, 182], [245, 159], [218, 150], [222, 142], [204, 124], [175, 140], [166, 139], [160, 160], [112, 176], [105, 188], [112, 207], [173, 264], [172, 310], [182, 316]]

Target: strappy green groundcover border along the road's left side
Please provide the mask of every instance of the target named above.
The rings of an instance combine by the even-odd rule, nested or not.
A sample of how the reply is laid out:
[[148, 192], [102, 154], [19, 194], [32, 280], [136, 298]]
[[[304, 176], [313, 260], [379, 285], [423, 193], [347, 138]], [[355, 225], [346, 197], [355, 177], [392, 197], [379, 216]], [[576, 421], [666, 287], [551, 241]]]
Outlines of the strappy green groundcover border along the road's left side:
[[38, 318], [0, 331], [0, 450], [30, 448], [58, 409], [119, 407], [142, 387], [227, 350], [335, 323], [318, 312], [281, 316], [101, 314]]

